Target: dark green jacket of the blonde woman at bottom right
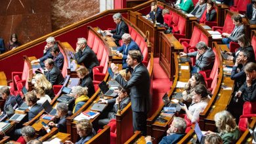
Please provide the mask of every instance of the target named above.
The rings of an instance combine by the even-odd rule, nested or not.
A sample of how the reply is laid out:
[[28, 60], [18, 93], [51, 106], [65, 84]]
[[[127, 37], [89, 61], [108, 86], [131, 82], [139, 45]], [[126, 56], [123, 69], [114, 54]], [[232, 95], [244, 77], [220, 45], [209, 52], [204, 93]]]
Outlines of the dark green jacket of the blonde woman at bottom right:
[[223, 139], [223, 144], [228, 144], [228, 143], [236, 143], [236, 141], [240, 137], [240, 130], [236, 128], [233, 132], [225, 133], [221, 135], [221, 138]]

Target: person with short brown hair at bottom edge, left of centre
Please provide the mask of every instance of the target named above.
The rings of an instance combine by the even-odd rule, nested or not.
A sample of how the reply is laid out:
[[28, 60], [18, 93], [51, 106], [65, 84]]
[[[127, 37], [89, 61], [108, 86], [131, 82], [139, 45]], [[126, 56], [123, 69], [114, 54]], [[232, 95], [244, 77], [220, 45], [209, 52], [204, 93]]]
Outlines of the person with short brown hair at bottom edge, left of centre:
[[[79, 120], [76, 124], [77, 134], [81, 137], [75, 144], [83, 144], [96, 135], [93, 124], [89, 120]], [[66, 144], [74, 144], [72, 141], [65, 141]]]

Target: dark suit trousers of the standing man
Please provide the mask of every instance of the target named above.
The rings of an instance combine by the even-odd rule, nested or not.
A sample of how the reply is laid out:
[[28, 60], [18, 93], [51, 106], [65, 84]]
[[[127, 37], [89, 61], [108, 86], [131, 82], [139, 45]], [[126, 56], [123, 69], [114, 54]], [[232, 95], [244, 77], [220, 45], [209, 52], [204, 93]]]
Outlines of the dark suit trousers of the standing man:
[[146, 135], [146, 112], [133, 111], [133, 131], [136, 130], [142, 132], [142, 135]]

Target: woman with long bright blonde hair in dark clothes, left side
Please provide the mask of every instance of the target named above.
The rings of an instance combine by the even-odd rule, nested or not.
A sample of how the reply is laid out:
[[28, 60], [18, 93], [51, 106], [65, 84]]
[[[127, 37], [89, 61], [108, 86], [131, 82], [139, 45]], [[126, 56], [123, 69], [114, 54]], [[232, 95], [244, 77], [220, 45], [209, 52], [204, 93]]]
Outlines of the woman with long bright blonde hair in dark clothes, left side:
[[50, 96], [50, 98], [55, 97], [51, 82], [49, 82], [46, 79], [45, 75], [41, 73], [38, 73], [37, 75], [35, 75], [35, 87], [45, 88], [45, 94]]

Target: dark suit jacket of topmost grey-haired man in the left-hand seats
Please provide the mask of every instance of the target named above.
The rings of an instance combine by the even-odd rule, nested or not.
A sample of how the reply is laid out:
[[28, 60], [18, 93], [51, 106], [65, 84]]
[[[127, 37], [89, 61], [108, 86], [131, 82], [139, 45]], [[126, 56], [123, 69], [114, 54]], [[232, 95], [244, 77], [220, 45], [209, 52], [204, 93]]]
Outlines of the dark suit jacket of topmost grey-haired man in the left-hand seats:
[[113, 29], [112, 31], [110, 31], [110, 33], [114, 33], [113, 38], [117, 40], [121, 39], [123, 33], [129, 33], [128, 26], [127, 24], [125, 24], [125, 22], [123, 22], [123, 20], [121, 20], [119, 29], [118, 27], [119, 27], [119, 24], [117, 24], [116, 29]]

